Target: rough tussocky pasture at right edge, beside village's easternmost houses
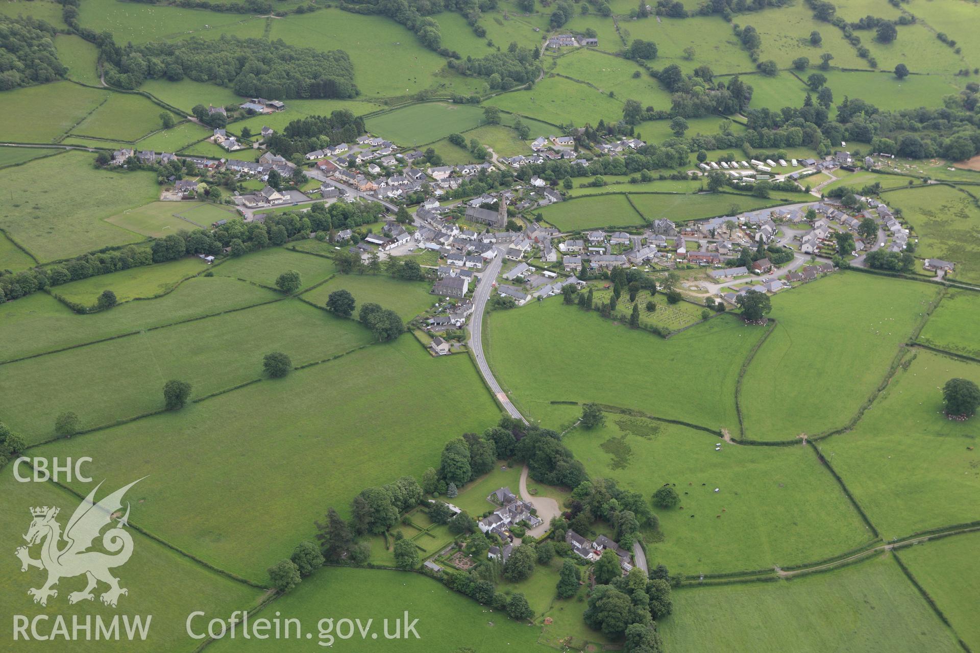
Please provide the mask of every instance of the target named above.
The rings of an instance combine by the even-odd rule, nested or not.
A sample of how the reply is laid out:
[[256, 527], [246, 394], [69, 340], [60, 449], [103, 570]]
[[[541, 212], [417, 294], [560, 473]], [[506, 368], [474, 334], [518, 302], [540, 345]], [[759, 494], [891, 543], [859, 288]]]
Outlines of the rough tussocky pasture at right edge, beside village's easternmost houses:
[[885, 193], [881, 199], [901, 209], [915, 229], [916, 257], [954, 261], [951, 279], [980, 283], [980, 209], [969, 195], [950, 186], [926, 186]]

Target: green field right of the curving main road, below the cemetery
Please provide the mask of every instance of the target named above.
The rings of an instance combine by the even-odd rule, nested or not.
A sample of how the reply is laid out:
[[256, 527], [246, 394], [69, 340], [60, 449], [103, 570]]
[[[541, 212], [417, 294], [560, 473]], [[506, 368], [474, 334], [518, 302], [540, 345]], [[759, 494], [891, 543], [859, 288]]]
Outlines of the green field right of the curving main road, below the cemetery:
[[763, 333], [726, 316], [663, 340], [561, 299], [493, 311], [486, 322], [484, 347], [497, 380], [525, 416], [549, 428], [566, 417], [550, 402], [572, 400], [734, 429], [738, 370]]

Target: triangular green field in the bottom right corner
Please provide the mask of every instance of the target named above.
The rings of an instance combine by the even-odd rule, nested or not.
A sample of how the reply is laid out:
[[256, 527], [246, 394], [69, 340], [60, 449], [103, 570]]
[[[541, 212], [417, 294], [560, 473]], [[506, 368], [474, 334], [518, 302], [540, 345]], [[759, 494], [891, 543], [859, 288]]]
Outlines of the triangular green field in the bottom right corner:
[[971, 648], [980, 647], [980, 624], [975, 619], [980, 570], [975, 564], [980, 534], [945, 537], [900, 551], [915, 580], [929, 593], [953, 630]]

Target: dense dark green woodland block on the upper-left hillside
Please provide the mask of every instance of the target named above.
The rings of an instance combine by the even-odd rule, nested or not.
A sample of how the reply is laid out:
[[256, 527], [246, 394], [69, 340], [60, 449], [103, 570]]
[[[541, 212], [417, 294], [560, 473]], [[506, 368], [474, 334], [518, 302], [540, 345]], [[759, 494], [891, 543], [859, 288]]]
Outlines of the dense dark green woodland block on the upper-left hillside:
[[287, 45], [281, 39], [192, 37], [117, 45], [112, 34], [98, 36], [106, 81], [136, 88], [145, 79], [211, 82], [244, 97], [353, 98], [354, 66], [343, 50], [320, 51]]

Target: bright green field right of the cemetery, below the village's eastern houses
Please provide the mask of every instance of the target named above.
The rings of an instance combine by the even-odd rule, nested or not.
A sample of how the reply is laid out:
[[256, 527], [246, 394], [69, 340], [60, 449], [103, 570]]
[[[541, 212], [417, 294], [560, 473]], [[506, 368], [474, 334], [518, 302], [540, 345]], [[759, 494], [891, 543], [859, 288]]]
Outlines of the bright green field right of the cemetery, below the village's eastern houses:
[[742, 381], [744, 437], [793, 440], [845, 426], [936, 294], [927, 284], [835, 272], [773, 297], [775, 330]]

